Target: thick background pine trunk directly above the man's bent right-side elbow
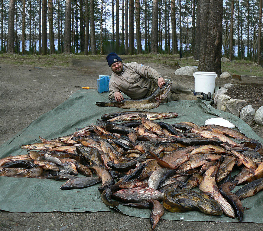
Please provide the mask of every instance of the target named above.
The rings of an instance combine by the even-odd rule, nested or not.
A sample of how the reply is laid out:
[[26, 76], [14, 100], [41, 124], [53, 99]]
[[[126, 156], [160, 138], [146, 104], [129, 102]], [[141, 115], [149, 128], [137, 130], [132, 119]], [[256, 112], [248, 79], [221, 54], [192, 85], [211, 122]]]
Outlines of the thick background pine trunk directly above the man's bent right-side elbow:
[[151, 53], [158, 52], [158, 0], [153, 0], [151, 26]]

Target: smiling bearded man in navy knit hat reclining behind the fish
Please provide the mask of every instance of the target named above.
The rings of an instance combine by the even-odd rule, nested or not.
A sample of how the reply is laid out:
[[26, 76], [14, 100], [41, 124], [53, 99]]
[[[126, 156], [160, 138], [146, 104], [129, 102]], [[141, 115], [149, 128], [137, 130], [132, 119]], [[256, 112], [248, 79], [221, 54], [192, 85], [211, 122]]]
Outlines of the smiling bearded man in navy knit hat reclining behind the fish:
[[[122, 59], [114, 52], [109, 53], [106, 59], [113, 71], [109, 82], [110, 100], [122, 101], [124, 98], [121, 92], [131, 99], [146, 98], [157, 87], [161, 88], [165, 84], [161, 74], [151, 67], [136, 62], [123, 64]], [[183, 87], [182, 84], [173, 82], [170, 92], [161, 103], [177, 100], [196, 100], [197, 97], [210, 101], [211, 93], [193, 93]]]

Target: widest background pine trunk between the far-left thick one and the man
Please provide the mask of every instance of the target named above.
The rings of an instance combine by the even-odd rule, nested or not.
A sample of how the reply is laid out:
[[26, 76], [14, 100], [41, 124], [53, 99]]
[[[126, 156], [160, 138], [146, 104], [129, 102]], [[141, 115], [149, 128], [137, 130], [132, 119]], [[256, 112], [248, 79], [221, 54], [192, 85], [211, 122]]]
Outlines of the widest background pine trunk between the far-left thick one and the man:
[[64, 53], [71, 52], [71, 0], [66, 0], [65, 9], [65, 31], [64, 31]]

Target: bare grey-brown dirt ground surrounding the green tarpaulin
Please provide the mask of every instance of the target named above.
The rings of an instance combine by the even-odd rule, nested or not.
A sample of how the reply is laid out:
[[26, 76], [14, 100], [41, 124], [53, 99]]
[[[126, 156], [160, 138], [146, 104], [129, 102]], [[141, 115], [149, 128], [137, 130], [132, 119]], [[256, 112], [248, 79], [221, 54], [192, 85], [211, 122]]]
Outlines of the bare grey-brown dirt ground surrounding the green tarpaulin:
[[[135, 61], [135, 60], [134, 60]], [[194, 78], [175, 76], [174, 68], [165, 64], [149, 65], [165, 79], [194, 89]], [[41, 114], [67, 100], [80, 87], [97, 86], [99, 74], [110, 75], [106, 61], [72, 59], [69, 67], [31, 67], [1, 63], [0, 71], [0, 145], [13, 137]], [[223, 87], [230, 79], [216, 79]], [[263, 137], [262, 126], [250, 126]], [[155, 230], [262, 230], [260, 223], [188, 222], [160, 220]], [[118, 212], [96, 213], [9, 213], [0, 211], [0, 230], [151, 230], [150, 220]]]

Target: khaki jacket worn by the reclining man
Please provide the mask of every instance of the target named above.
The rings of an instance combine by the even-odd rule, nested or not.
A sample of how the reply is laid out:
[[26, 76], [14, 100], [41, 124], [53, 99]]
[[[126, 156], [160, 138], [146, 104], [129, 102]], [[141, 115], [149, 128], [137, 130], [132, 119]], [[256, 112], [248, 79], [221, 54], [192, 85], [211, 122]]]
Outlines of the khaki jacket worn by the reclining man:
[[151, 67], [133, 63], [123, 64], [121, 74], [112, 72], [109, 81], [109, 99], [114, 99], [114, 92], [122, 92], [131, 99], [142, 99], [151, 87], [152, 79], [157, 80], [161, 74]]

